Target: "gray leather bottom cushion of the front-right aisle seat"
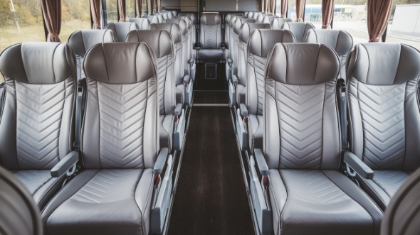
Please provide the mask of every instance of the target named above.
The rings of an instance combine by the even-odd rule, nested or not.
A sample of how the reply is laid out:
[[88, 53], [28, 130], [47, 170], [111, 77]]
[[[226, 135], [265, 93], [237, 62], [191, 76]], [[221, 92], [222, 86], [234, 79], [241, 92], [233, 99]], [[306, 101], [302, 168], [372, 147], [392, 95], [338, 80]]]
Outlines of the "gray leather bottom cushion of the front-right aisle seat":
[[270, 170], [275, 234], [379, 234], [382, 212], [337, 170]]

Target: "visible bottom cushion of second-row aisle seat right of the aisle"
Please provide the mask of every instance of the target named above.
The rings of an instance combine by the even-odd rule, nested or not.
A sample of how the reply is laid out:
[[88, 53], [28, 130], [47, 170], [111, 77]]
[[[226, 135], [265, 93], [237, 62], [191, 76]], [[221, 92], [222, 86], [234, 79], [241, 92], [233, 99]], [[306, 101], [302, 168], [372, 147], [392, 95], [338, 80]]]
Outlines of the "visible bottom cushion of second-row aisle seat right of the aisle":
[[264, 117], [248, 114], [248, 143], [249, 148], [263, 148]]

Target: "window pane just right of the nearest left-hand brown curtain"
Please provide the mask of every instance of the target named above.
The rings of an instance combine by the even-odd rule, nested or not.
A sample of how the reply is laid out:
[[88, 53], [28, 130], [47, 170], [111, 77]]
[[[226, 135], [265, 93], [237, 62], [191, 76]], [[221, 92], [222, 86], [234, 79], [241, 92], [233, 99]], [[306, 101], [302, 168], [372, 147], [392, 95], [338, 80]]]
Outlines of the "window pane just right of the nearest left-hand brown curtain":
[[61, 2], [60, 39], [67, 42], [70, 34], [81, 29], [90, 29], [90, 5], [86, 0], [63, 0]]

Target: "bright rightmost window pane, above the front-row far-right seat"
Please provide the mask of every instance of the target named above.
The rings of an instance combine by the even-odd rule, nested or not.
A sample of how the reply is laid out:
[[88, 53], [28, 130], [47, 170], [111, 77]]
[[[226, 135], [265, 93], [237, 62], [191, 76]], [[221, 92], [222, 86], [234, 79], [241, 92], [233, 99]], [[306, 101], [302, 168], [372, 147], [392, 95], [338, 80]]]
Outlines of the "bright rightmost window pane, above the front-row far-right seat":
[[394, 0], [387, 42], [405, 43], [420, 50], [420, 0]]

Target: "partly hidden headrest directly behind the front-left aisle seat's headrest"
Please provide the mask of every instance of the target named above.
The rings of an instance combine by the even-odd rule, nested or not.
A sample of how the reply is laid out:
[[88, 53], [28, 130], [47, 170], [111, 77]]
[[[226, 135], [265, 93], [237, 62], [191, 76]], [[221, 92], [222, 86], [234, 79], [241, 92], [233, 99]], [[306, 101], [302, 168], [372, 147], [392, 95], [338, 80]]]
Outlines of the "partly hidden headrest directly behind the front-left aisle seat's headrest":
[[164, 30], [137, 30], [128, 33], [126, 42], [140, 43], [145, 42], [152, 48], [157, 58], [172, 54], [172, 38], [167, 31]]

